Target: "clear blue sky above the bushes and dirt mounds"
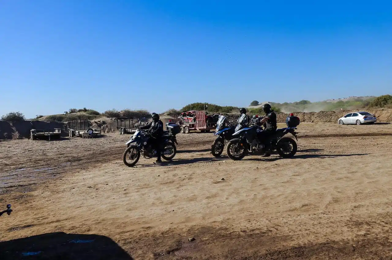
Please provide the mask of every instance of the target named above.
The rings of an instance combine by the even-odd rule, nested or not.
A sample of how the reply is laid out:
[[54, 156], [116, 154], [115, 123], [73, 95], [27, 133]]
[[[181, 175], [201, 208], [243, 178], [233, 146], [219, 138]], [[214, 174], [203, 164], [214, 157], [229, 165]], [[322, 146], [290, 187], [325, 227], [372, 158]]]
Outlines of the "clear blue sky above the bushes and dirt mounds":
[[319, 101], [391, 83], [391, 1], [0, 0], [0, 115]]

